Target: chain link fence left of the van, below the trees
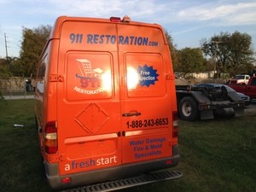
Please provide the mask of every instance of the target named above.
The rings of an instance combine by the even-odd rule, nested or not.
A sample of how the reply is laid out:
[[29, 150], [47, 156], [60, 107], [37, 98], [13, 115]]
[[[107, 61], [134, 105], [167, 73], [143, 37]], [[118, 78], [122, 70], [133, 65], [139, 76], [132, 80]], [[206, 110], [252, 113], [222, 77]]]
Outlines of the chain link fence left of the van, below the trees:
[[0, 79], [0, 92], [7, 100], [33, 98], [34, 87], [34, 80], [27, 78]]

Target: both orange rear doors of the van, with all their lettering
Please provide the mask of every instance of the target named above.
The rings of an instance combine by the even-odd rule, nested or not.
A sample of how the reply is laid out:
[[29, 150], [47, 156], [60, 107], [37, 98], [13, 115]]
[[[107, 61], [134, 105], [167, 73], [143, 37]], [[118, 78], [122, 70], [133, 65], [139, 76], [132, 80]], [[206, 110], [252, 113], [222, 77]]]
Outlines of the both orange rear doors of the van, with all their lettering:
[[171, 157], [175, 89], [160, 27], [88, 18], [61, 27], [61, 175]]

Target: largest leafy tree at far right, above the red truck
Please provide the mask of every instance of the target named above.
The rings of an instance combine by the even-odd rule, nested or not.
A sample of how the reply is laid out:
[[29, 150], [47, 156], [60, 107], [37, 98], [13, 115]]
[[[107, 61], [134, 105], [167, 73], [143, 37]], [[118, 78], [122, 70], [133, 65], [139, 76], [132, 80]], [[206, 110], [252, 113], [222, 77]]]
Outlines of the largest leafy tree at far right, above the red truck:
[[221, 32], [201, 41], [205, 55], [215, 61], [214, 71], [219, 73], [248, 73], [253, 67], [252, 38], [247, 33]]

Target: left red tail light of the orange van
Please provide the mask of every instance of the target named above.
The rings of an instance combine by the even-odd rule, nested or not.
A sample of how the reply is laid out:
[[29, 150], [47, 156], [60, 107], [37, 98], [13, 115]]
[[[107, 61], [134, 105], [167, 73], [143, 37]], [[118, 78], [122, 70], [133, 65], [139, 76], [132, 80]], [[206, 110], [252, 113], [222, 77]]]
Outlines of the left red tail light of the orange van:
[[57, 141], [57, 128], [55, 121], [49, 121], [45, 125], [45, 152], [47, 154], [55, 154], [58, 151], [58, 141]]

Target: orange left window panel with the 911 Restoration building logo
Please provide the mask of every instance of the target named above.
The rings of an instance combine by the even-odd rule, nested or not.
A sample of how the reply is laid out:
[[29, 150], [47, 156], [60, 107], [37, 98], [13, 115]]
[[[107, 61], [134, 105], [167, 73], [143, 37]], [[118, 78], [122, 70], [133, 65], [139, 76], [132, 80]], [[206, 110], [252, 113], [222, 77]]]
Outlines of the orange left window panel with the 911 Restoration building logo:
[[67, 100], [113, 96], [113, 59], [109, 53], [69, 52], [66, 57]]

